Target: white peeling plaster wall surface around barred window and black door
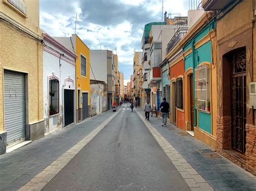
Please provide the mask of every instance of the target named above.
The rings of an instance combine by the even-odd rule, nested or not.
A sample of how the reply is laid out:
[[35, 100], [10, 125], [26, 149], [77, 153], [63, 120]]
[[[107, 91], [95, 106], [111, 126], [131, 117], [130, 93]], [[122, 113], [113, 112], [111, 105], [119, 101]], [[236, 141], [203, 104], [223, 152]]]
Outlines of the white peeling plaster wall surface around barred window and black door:
[[[63, 59], [60, 59], [60, 67], [59, 67], [59, 54], [55, 51], [57, 55], [53, 55], [44, 50], [43, 58], [44, 58], [44, 79], [43, 79], [43, 97], [44, 97], [44, 121], [45, 121], [45, 133], [49, 133], [51, 131], [55, 131], [58, 128], [64, 127], [64, 90], [71, 89], [76, 90], [76, 66], [75, 66], [75, 59], [69, 55], [66, 55], [62, 52], [59, 48], [51, 45], [47, 41], [45, 41], [47, 46], [55, 49], [56, 51], [64, 54], [62, 58], [66, 57], [68, 59], [73, 60], [73, 65]], [[52, 73], [55, 73], [56, 77], [59, 79], [59, 113], [57, 115], [49, 116], [49, 76], [52, 76]], [[73, 80], [72, 82], [66, 81], [65, 79]], [[74, 92], [75, 95], [75, 92]], [[74, 114], [75, 112], [75, 105], [74, 105]], [[57, 120], [56, 120], [57, 118]], [[74, 116], [75, 119], [75, 116]], [[53, 121], [57, 121], [54, 123]]]

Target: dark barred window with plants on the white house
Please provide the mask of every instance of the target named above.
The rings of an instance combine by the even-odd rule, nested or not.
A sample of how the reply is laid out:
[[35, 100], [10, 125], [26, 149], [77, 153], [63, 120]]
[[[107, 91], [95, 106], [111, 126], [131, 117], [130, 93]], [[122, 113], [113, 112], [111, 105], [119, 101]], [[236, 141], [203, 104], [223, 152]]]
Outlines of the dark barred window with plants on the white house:
[[49, 81], [49, 112], [50, 115], [59, 112], [59, 81], [56, 79]]

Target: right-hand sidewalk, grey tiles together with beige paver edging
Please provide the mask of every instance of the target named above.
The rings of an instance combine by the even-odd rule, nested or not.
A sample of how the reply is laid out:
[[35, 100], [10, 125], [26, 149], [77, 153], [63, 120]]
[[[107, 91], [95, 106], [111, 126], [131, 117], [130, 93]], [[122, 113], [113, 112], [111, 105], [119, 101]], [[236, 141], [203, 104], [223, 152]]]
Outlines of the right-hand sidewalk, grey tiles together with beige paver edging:
[[[137, 108], [136, 112], [144, 115], [140, 108]], [[178, 151], [176, 154], [166, 154], [190, 185], [191, 190], [256, 190], [256, 178], [251, 173], [224, 157], [205, 158], [199, 150], [211, 148], [203, 142], [192, 136], [180, 136], [179, 132], [184, 131], [170, 123], [166, 128], [161, 126], [159, 117], [150, 117], [149, 123]], [[158, 138], [157, 141], [159, 140], [162, 139]]]

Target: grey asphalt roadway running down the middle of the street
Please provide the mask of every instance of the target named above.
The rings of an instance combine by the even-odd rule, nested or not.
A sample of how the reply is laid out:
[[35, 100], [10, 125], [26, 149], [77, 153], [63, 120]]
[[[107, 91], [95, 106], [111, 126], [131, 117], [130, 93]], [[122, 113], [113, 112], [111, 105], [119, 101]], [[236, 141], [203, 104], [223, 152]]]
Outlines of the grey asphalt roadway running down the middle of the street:
[[190, 189], [126, 104], [43, 190]]

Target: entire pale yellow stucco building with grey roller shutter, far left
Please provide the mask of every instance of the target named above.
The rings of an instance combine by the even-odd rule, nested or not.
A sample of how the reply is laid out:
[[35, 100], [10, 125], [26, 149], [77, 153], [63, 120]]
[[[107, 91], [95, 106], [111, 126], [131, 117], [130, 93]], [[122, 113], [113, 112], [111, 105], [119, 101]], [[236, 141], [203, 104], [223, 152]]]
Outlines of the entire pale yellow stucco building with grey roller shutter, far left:
[[0, 39], [0, 140], [5, 147], [44, 136], [39, 1], [0, 1]]

